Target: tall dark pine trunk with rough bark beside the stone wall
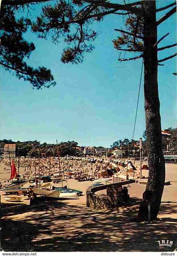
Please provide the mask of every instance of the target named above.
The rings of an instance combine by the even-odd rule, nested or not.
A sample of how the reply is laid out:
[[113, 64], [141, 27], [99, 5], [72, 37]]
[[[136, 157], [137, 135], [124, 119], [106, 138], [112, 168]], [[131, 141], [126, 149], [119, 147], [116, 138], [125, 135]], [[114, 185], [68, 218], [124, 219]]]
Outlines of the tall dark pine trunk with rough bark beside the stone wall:
[[[157, 218], [165, 182], [165, 162], [162, 150], [160, 102], [158, 98], [158, 57], [156, 1], [143, 1], [144, 9], [144, 95], [146, 134], [148, 146], [149, 177], [146, 190], [156, 194], [151, 204], [151, 219]], [[148, 206], [145, 202], [139, 207], [138, 219], [146, 220]]]

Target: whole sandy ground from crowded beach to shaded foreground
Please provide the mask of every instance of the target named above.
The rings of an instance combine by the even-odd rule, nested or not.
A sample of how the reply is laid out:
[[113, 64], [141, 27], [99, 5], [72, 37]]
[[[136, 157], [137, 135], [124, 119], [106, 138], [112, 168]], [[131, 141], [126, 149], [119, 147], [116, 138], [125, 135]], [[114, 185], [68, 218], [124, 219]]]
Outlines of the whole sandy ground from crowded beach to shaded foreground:
[[[112, 209], [95, 210], [86, 207], [86, 190], [100, 172], [113, 167], [110, 158], [15, 158], [21, 178], [51, 176], [63, 173], [61, 181], [53, 179], [51, 188], [80, 190], [78, 199], [41, 200], [36, 204], [6, 202], [1, 195], [1, 246], [4, 251], [175, 251], [177, 223], [177, 165], [166, 163], [166, 184], [158, 221], [137, 223], [142, 194], [148, 180], [148, 170], [140, 174], [140, 162], [135, 161], [133, 178], [128, 185], [130, 200]], [[125, 160], [126, 161], [126, 160]], [[133, 159], [132, 159], [133, 162]], [[18, 168], [19, 164], [19, 168]], [[111, 165], [112, 164], [112, 165]], [[147, 161], [143, 164], [147, 165]], [[142, 165], [143, 165], [142, 164]], [[0, 162], [0, 185], [9, 184], [9, 159]], [[114, 165], [115, 167], [115, 165]], [[123, 166], [117, 166], [122, 169]], [[117, 168], [115, 167], [115, 169]], [[78, 177], [85, 177], [78, 181]], [[109, 176], [113, 182], [113, 175]], [[98, 191], [105, 194], [106, 191]], [[173, 241], [172, 248], [159, 247], [159, 240]]]

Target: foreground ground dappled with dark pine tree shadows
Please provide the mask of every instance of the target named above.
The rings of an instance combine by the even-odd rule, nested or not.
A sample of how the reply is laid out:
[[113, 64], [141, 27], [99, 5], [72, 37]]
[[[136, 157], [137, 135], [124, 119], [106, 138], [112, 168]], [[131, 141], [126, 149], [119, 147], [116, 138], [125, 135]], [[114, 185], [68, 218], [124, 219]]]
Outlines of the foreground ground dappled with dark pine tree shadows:
[[[159, 223], [135, 223], [140, 200], [123, 207], [96, 211], [72, 202], [41, 202], [3, 212], [1, 241], [4, 251], [174, 251], [176, 204], [164, 202]], [[173, 216], [173, 215], [172, 215]], [[172, 240], [172, 248], [158, 240]]]

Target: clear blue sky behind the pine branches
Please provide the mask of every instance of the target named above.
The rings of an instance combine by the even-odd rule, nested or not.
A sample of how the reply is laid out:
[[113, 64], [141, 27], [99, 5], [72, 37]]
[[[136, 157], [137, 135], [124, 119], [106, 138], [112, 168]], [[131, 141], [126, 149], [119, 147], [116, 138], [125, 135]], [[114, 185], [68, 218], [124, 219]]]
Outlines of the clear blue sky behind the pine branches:
[[[122, 3], [122, 1], [119, 1]], [[161, 7], [172, 1], [157, 1]], [[159, 12], [158, 15], [163, 15]], [[28, 63], [44, 65], [54, 75], [56, 86], [33, 90], [32, 85], [0, 68], [0, 139], [38, 140], [55, 143], [75, 140], [83, 146], [109, 147], [118, 139], [131, 139], [134, 126], [142, 60], [118, 62], [119, 52], [112, 40], [119, 34], [115, 28], [123, 27], [120, 16], [107, 16], [94, 25], [99, 31], [93, 52], [85, 54], [78, 65], [60, 62], [63, 42], [38, 39], [27, 33], [36, 50]], [[160, 47], [176, 42], [176, 16], [159, 25], [158, 37], [170, 33]], [[163, 58], [174, 54], [167, 49]], [[128, 54], [126, 54], [126, 57]], [[159, 66], [158, 85], [161, 101], [162, 129], [176, 127], [176, 60]], [[134, 138], [145, 130], [143, 79], [139, 98], [137, 125]]]

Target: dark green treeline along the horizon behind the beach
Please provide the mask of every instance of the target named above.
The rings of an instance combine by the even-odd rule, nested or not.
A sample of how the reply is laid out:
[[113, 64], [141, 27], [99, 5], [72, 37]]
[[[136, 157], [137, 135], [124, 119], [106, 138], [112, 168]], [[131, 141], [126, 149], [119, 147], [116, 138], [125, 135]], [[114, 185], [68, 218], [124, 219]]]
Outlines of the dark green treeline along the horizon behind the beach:
[[[169, 132], [171, 136], [163, 137], [163, 148], [164, 150], [177, 150], [177, 128], [168, 128], [165, 131]], [[78, 155], [78, 142], [68, 141], [68, 142], [59, 142], [59, 144], [48, 144], [46, 142], [40, 143], [37, 140], [34, 141], [12, 141], [11, 139], [0, 140], [0, 147], [4, 147], [5, 144], [16, 144], [16, 155], [19, 156], [41, 156], [45, 154], [46, 156], [61, 156], [65, 155]], [[120, 148], [128, 152], [129, 150], [138, 150], [138, 140], [130, 139], [119, 139], [110, 146], [111, 149]], [[136, 147], [137, 146], [137, 147]], [[96, 148], [96, 147], [95, 147]], [[146, 143], [146, 132], [143, 133], [143, 151], [146, 154], [147, 152], [147, 143]]]

